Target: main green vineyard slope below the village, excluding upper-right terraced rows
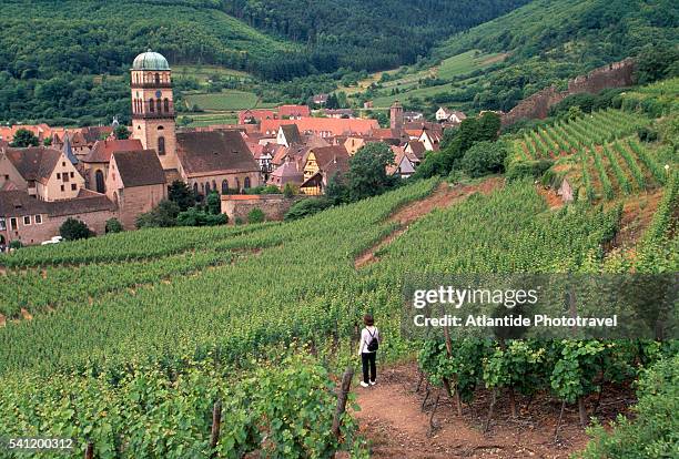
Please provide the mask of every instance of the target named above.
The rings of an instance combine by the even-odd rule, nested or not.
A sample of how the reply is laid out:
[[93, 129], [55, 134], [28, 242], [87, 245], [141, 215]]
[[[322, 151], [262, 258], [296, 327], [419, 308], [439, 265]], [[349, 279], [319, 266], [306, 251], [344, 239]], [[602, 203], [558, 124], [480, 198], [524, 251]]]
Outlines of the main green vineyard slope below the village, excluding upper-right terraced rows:
[[[0, 328], [0, 430], [91, 439], [103, 458], [239, 457], [263, 435], [298, 456], [355, 447], [351, 419], [351, 445], [328, 434], [327, 370], [353, 358], [354, 325], [366, 310], [389, 337], [385, 358], [413, 349], [398, 333], [404, 273], [578, 271], [618, 225], [616, 212], [588, 206], [547, 212], [533, 183], [516, 182], [425, 216], [376, 263], [354, 268], [395, 231], [386, 216], [434, 186], [415, 183], [291, 224], [142, 231], [1, 258], [4, 314], [24, 307], [33, 317]], [[659, 234], [673, 196], [659, 211]], [[653, 256], [652, 266], [677, 263], [676, 252]], [[50, 292], [63, 296], [53, 302]], [[301, 343], [315, 357], [301, 357]], [[283, 398], [274, 395], [281, 388]], [[230, 427], [211, 449], [215, 399]], [[290, 424], [270, 422], [278, 418]], [[175, 442], [155, 441], [162, 431]]]

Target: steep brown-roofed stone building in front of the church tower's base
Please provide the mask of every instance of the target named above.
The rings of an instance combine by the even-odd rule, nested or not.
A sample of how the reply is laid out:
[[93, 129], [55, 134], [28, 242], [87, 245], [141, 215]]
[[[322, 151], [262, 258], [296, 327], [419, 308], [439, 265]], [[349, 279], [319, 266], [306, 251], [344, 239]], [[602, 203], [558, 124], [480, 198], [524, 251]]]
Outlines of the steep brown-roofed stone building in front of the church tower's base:
[[165, 172], [153, 150], [111, 153], [107, 183], [107, 196], [118, 205], [125, 230], [133, 230], [140, 214], [168, 197]]

